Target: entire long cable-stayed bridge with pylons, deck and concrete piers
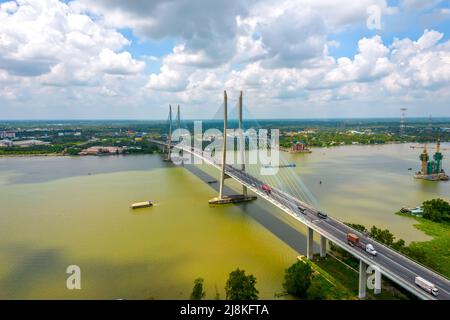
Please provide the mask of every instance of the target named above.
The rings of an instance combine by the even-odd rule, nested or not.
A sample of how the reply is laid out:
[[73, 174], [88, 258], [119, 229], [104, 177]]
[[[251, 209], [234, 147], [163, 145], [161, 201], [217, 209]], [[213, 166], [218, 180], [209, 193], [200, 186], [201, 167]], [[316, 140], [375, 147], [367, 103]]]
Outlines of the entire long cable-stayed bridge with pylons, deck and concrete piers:
[[[239, 103], [239, 128], [242, 122], [242, 99]], [[177, 113], [178, 124], [180, 123], [179, 111]], [[171, 118], [171, 116], [170, 116]], [[224, 95], [224, 133], [223, 141], [227, 140], [226, 134], [227, 125], [227, 97]], [[179, 126], [179, 125], [178, 125]], [[242, 139], [242, 136], [240, 137]], [[224, 201], [223, 203], [241, 202], [253, 200], [254, 196], [247, 195], [247, 189], [251, 190], [259, 198], [264, 199], [272, 203], [275, 207], [280, 208], [284, 213], [295, 219], [296, 221], [307, 226], [307, 257], [313, 258], [313, 234], [317, 232], [320, 235], [320, 256], [325, 256], [327, 252], [327, 240], [330, 240], [335, 245], [341, 247], [345, 251], [352, 254], [354, 257], [360, 260], [359, 267], [359, 297], [364, 298], [366, 296], [367, 288], [367, 270], [375, 271], [375, 293], [381, 290], [381, 274], [386, 278], [397, 283], [404, 289], [408, 290], [415, 296], [424, 300], [449, 300], [450, 299], [450, 281], [444, 276], [439, 275], [433, 270], [409, 259], [408, 257], [394, 251], [393, 249], [376, 242], [374, 239], [369, 238], [367, 235], [345, 225], [339, 220], [327, 216], [324, 218], [320, 216], [320, 210], [315, 205], [315, 200], [312, 195], [304, 193], [303, 196], [292, 195], [292, 189], [286, 191], [283, 188], [270, 185], [261, 178], [255, 177], [245, 170], [245, 165], [233, 166], [227, 164], [226, 159], [226, 145], [223, 147], [222, 161], [218, 161], [216, 157], [211, 156], [209, 152], [205, 152], [202, 148], [195, 146], [188, 146], [184, 144], [173, 145], [171, 141], [171, 133], [168, 135], [168, 141], [150, 140], [151, 142], [158, 144], [166, 150], [168, 154], [171, 153], [171, 148], [176, 148], [178, 151], [182, 151], [185, 154], [190, 154], [198, 159], [201, 159], [204, 163], [207, 163], [214, 168], [220, 170], [220, 193], [219, 197], [215, 200], [228, 199], [230, 201]], [[224, 143], [226, 144], [226, 142]], [[242, 146], [241, 143], [241, 152]], [[170, 157], [170, 156], [169, 156]], [[233, 198], [227, 198], [222, 192], [226, 178], [231, 178], [240, 183], [243, 186], [243, 196], [237, 196], [233, 201]], [[300, 181], [301, 182], [301, 181]], [[289, 183], [295, 183], [290, 181]], [[294, 186], [295, 187], [295, 186]], [[296, 190], [302, 190], [304, 186], [300, 186]], [[295, 190], [295, 188], [294, 188]], [[306, 198], [306, 199], [305, 199]], [[306, 201], [305, 201], [306, 200]], [[308, 203], [307, 203], [308, 202]], [[216, 202], [221, 203], [221, 202]], [[351, 246], [347, 242], [347, 235], [353, 233], [358, 235], [362, 243], [371, 243], [375, 246], [377, 254], [375, 256], [366, 252], [358, 246]], [[419, 287], [415, 279], [421, 277], [435, 285], [439, 290], [437, 296], [426, 292], [423, 288]]]

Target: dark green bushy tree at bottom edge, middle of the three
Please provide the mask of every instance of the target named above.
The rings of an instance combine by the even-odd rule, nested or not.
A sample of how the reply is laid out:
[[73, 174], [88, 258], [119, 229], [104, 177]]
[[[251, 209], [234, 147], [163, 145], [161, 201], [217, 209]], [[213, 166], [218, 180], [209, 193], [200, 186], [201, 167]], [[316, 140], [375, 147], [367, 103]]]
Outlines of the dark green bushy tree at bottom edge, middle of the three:
[[247, 276], [244, 270], [237, 268], [230, 273], [225, 285], [227, 300], [257, 300], [259, 291], [255, 284], [255, 276]]

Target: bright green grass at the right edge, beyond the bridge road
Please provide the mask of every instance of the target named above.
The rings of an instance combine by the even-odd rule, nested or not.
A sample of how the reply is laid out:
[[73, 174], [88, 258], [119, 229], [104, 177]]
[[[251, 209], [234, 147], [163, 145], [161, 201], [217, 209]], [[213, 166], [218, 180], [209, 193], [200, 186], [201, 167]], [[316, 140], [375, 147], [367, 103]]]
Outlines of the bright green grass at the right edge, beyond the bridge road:
[[433, 237], [433, 240], [412, 242], [409, 246], [424, 250], [427, 255], [432, 257], [435, 264], [434, 269], [450, 278], [450, 225], [414, 217], [405, 213], [398, 214], [417, 220], [418, 223], [414, 224], [414, 227]]

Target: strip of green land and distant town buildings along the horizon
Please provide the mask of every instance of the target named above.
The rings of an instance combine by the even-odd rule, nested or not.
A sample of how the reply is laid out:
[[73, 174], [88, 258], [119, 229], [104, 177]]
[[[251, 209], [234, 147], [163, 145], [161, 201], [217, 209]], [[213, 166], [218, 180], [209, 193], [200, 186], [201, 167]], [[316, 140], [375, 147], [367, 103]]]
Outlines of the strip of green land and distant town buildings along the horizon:
[[[193, 128], [193, 121], [183, 126]], [[256, 124], [255, 124], [256, 123]], [[233, 124], [231, 122], [231, 124]], [[206, 121], [204, 129], [220, 128]], [[154, 153], [149, 139], [166, 135], [164, 121], [4, 121], [0, 155], [117, 155]], [[259, 120], [246, 128], [280, 129], [280, 149], [311, 152], [314, 147], [399, 142], [450, 141], [450, 119], [417, 118], [401, 129], [398, 119]]]

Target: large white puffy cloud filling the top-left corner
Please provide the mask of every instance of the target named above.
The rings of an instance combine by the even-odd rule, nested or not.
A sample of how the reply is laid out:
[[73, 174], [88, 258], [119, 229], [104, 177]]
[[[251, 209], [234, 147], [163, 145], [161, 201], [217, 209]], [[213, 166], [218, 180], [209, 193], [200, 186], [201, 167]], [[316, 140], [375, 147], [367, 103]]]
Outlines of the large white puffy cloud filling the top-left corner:
[[102, 73], [134, 74], [145, 67], [129, 52], [116, 53], [129, 44], [122, 34], [59, 1], [5, 3], [0, 12], [0, 68], [11, 75], [41, 76], [44, 84], [86, 83]]

